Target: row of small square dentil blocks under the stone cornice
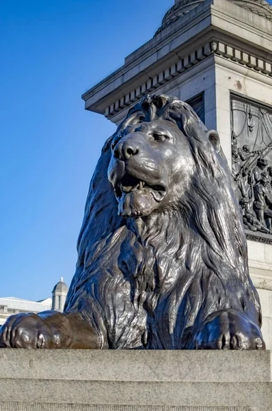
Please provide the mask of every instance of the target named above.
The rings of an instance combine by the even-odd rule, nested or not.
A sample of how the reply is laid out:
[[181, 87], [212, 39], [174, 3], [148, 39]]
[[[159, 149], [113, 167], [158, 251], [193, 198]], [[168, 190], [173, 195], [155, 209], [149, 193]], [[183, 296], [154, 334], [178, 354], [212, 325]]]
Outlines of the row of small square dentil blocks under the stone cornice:
[[236, 49], [223, 42], [213, 40], [194, 50], [192, 53], [185, 55], [184, 58], [180, 58], [180, 60], [175, 64], [172, 64], [172, 66], [161, 71], [158, 75], [155, 75], [152, 78], [150, 77], [147, 82], [131, 90], [131, 92], [128, 92], [126, 95], [109, 105], [105, 109], [105, 116], [110, 119], [112, 116], [128, 107], [128, 105], [141, 99], [143, 95], [156, 90], [162, 84], [169, 82], [177, 75], [191, 69], [192, 66], [195, 66], [211, 54], [220, 55], [222, 58], [232, 60], [233, 62], [247, 66], [251, 70], [272, 77], [272, 62], [245, 53], [243, 50]]

